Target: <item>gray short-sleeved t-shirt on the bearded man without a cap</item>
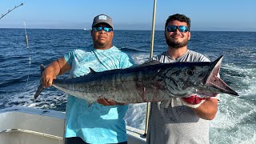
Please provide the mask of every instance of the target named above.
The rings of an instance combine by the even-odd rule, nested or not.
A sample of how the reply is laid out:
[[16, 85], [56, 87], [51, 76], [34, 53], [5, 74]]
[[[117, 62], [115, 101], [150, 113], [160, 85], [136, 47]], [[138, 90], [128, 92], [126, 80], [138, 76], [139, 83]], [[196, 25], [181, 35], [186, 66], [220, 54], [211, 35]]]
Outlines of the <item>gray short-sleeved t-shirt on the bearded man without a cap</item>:
[[[210, 62], [204, 55], [187, 50], [173, 59], [167, 52], [154, 58], [159, 62]], [[148, 144], [209, 143], [210, 121], [199, 118], [190, 107], [183, 106], [179, 98], [150, 103]]]

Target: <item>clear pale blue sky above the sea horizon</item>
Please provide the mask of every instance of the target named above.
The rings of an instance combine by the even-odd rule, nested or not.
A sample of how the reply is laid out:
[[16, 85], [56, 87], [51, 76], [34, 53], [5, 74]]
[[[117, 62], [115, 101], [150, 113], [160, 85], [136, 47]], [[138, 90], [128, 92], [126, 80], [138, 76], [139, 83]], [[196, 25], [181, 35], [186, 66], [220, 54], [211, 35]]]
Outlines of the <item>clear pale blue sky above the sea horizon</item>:
[[[84, 29], [94, 16], [107, 14], [115, 30], [151, 30], [154, 0], [0, 0], [0, 28]], [[170, 14], [186, 14], [191, 30], [256, 31], [254, 0], [158, 0], [156, 30]]]

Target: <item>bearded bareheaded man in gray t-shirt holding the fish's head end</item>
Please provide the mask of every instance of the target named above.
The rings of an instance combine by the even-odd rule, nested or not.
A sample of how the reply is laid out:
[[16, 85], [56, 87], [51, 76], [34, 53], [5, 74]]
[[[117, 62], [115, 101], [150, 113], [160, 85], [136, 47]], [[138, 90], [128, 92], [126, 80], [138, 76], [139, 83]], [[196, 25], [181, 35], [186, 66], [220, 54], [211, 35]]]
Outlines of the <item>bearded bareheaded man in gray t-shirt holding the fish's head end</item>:
[[[166, 20], [168, 50], [154, 60], [159, 62], [209, 62], [204, 55], [187, 49], [190, 40], [190, 18], [171, 15]], [[210, 121], [218, 110], [218, 97], [171, 98], [150, 103], [148, 144], [209, 143]]]

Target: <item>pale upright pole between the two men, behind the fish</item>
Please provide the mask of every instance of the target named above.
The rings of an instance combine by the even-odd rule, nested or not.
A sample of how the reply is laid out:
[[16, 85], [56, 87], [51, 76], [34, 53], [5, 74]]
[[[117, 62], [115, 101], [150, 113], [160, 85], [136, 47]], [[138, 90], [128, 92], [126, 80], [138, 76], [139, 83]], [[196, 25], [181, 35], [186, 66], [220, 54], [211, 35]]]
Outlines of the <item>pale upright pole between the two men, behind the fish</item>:
[[[153, 19], [152, 19], [152, 34], [151, 34], [151, 49], [150, 49], [150, 60], [153, 58], [154, 52], [154, 25], [155, 25], [155, 11], [157, 7], [157, 0], [154, 0], [154, 10], [153, 10]], [[147, 129], [149, 125], [149, 116], [150, 116], [150, 102], [146, 102], [146, 122], [145, 122], [145, 132], [144, 137], [147, 135]]]

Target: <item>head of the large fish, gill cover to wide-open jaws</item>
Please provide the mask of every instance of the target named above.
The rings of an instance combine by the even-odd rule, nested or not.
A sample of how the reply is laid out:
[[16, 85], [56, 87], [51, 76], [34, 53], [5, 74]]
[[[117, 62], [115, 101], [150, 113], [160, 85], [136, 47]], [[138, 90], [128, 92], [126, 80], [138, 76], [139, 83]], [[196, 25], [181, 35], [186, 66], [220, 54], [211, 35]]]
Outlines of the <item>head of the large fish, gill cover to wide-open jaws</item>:
[[186, 97], [199, 94], [214, 97], [219, 93], [238, 95], [219, 78], [222, 62], [220, 57], [214, 62], [177, 62], [166, 70], [166, 87], [170, 94]]

